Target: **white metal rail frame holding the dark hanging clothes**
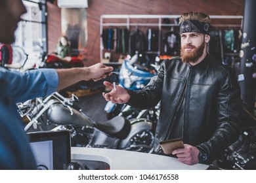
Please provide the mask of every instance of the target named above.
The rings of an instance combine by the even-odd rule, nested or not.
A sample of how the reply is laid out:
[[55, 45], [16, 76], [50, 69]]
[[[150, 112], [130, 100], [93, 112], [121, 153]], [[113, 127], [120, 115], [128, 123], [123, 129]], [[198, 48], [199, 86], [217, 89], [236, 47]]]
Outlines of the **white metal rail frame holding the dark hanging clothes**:
[[[146, 26], [146, 27], [158, 27], [158, 35], [161, 35], [162, 27], [178, 27], [178, 24], [163, 24], [163, 19], [172, 19], [177, 20], [181, 15], [158, 15], [158, 14], [102, 14], [100, 16], [100, 35], [103, 33], [103, 27], [126, 27], [130, 30], [133, 26]], [[213, 19], [238, 19], [240, 24], [213, 24], [216, 27], [241, 27], [243, 25], [243, 16], [232, 16], [232, 15], [210, 15], [211, 20]], [[120, 20], [118, 23], [108, 23], [108, 20]], [[140, 19], [154, 19], [156, 23], [134, 23], [131, 20], [140, 20]], [[161, 36], [158, 37], [158, 54], [161, 50]], [[103, 57], [104, 46], [102, 44], [102, 37], [100, 36], [100, 59]]]

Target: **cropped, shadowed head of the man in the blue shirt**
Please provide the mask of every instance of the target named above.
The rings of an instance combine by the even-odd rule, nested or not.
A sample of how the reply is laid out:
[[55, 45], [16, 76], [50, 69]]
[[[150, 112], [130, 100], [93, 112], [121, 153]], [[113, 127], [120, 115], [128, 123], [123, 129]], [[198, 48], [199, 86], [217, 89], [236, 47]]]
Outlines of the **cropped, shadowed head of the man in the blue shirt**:
[[0, 42], [14, 42], [14, 31], [20, 16], [26, 13], [22, 0], [0, 0]]

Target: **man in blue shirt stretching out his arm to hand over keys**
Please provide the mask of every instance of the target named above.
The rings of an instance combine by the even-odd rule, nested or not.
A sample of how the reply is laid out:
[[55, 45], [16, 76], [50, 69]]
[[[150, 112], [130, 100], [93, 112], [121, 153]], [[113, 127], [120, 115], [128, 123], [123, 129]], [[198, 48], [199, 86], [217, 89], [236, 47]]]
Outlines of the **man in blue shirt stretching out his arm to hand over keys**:
[[[27, 12], [22, 0], [0, 1], [0, 42], [14, 42], [14, 31]], [[24, 72], [0, 67], [0, 169], [37, 169], [16, 103], [47, 97], [81, 80], [106, 78], [113, 67], [96, 63], [71, 69], [33, 69]]]

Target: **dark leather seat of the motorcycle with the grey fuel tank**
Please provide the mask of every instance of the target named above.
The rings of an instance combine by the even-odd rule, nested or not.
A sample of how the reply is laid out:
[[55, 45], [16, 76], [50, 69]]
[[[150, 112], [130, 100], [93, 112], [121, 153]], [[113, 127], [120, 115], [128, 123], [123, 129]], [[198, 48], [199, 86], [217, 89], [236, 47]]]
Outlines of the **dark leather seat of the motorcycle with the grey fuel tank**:
[[123, 116], [115, 116], [106, 122], [97, 122], [95, 127], [118, 139], [125, 139], [131, 131], [131, 123]]

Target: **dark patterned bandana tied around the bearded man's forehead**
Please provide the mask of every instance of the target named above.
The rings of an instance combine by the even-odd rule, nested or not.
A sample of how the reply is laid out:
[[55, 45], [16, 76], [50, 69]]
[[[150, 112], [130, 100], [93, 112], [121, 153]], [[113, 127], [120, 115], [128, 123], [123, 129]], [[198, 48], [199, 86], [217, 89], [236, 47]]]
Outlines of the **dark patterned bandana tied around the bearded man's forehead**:
[[211, 24], [199, 22], [198, 20], [185, 20], [180, 24], [181, 33], [203, 33], [210, 34]]

